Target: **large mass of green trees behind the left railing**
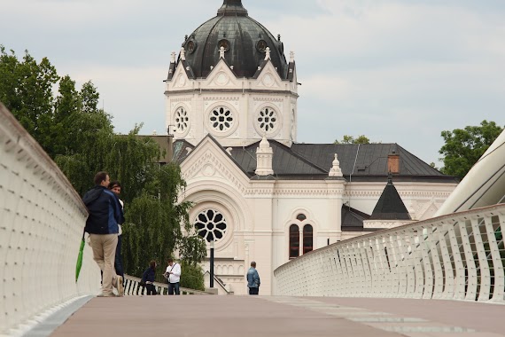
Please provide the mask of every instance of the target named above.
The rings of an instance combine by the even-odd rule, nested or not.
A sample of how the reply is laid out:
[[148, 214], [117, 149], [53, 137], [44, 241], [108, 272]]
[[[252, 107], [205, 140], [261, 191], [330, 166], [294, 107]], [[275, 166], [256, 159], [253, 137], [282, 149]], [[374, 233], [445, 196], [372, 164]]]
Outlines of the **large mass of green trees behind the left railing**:
[[[53, 88], [58, 88], [57, 94]], [[122, 253], [128, 274], [142, 275], [152, 259], [164, 265], [175, 251], [198, 274], [206, 245], [190, 225], [190, 203], [178, 202], [186, 184], [177, 165], [159, 166], [159, 145], [150, 137], [137, 137], [142, 124], [128, 135], [115, 134], [112, 116], [98, 107], [92, 82], [78, 90], [70, 76], [58, 76], [48, 59], [36, 62], [25, 51], [19, 60], [1, 45], [0, 101], [79, 194], [93, 186], [97, 171], [105, 170], [120, 181], [126, 218]], [[195, 279], [203, 286], [200, 274]]]

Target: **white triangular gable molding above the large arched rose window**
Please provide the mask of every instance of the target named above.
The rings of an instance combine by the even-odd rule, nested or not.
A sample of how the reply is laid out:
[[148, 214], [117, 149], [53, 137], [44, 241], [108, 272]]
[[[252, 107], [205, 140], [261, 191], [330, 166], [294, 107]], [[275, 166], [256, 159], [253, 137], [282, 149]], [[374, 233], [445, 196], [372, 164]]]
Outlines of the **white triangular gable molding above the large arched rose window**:
[[[212, 172], [212, 174], [209, 174], [209, 172]], [[183, 174], [183, 178], [189, 181], [190, 179], [201, 176], [217, 176], [216, 173], [220, 173], [223, 180], [226, 180], [243, 195], [245, 194], [246, 188], [244, 184], [242, 184], [237, 176], [229, 170], [228, 166], [210, 150], [207, 150], [206, 153], [198, 158], [198, 161], [191, 164], [190, 169]]]

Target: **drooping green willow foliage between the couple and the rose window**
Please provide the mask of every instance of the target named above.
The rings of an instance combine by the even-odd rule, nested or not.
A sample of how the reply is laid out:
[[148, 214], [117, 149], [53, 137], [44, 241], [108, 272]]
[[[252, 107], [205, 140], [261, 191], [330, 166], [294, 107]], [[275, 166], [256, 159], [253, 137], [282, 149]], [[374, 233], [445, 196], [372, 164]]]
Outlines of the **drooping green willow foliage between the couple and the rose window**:
[[151, 260], [165, 265], [175, 249], [184, 263], [196, 264], [206, 256], [206, 244], [189, 221], [192, 204], [178, 202], [185, 186], [178, 165], [159, 167], [142, 195], [128, 206], [123, 225], [123, 240], [128, 247], [123, 251], [127, 273], [142, 275]]

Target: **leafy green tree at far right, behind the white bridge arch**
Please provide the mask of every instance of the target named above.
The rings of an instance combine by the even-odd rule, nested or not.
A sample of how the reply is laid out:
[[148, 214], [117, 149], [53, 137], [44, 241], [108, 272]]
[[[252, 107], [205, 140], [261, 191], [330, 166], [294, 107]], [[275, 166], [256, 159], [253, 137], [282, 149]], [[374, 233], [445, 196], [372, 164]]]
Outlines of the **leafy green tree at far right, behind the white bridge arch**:
[[444, 162], [440, 171], [449, 176], [466, 176], [502, 130], [494, 121], [484, 120], [480, 126], [442, 131], [441, 136], [446, 144], [439, 150], [443, 155], [440, 160]]

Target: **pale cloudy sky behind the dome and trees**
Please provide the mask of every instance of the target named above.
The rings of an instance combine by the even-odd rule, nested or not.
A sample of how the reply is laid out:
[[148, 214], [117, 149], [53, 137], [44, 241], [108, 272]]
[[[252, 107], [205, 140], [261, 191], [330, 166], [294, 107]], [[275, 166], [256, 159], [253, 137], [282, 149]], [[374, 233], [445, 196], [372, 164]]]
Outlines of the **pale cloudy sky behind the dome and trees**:
[[[170, 53], [222, 0], [0, 0], [0, 44], [91, 80], [118, 132], [163, 134]], [[502, 0], [243, 0], [295, 52], [299, 134], [398, 143], [438, 162], [442, 130], [505, 125]]]

